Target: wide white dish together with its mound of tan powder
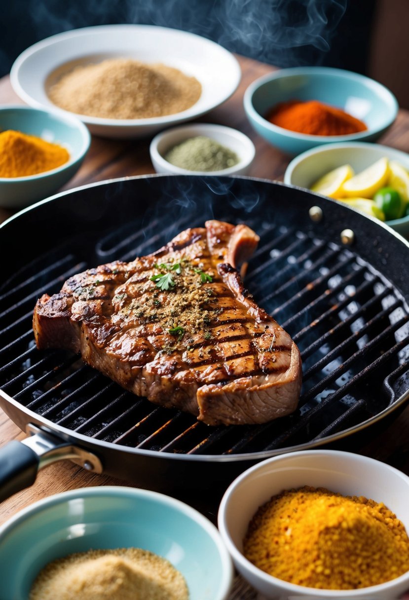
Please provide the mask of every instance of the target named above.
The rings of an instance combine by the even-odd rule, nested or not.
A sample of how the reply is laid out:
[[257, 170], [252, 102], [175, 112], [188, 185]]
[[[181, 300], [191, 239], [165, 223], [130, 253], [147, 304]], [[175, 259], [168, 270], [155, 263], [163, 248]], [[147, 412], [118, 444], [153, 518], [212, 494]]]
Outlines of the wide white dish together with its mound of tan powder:
[[103, 25], [53, 35], [11, 69], [29, 105], [77, 115], [91, 133], [136, 138], [189, 121], [236, 90], [234, 56], [206, 38], [148, 25]]

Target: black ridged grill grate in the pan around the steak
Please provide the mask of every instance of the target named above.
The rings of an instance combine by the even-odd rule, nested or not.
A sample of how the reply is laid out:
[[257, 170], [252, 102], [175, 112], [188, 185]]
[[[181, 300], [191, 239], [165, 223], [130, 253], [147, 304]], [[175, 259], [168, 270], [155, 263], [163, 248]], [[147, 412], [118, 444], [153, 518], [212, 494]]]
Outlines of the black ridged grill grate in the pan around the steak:
[[[228, 218], [225, 218], [228, 220]], [[197, 224], [203, 221], [197, 219]], [[409, 310], [404, 298], [346, 247], [296, 227], [246, 223], [260, 245], [246, 275], [255, 301], [296, 341], [303, 389], [293, 415], [261, 426], [209, 428], [188, 414], [155, 407], [65, 352], [40, 352], [32, 309], [70, 275], [113, 259], [149, 253], [191, 225], [134, 223], [98, 238], [89, 260], [65, 247], [44, 254], [3, 286], [0, 385], [22, 406], [70, 431], [157, 452], [234, 455], [313, 443], [355, 427], [409, 389]], [[158, 233], [159, 232], [159, 233]]]

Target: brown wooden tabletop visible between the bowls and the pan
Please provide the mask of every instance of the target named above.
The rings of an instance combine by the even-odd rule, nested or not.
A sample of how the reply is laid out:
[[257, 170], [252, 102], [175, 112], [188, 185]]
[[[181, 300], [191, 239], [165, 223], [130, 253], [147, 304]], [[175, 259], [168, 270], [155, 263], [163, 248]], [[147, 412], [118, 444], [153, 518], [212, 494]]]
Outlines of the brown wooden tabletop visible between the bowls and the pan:
[[[242, 106], [243, 92], [246, 87], [260, 76], [273, 70], [270, 65], [262, 64], [248, 58], [238, 56], [242, 67], [242, 80], [234, 95], [222, 106], [212, 110], [200, 121], [228, 125], [247, 134], [256, 148], [256, 159], [249, 175], [282, 180], [285, 167], [290, 160], [280, 151], [271, 148], [252, 130]], [[10, 79], [0, 79], [0, 104], [22, 104], [14, 94]], [[395, 124], [389, 132], [379, 140], [380, 143], [409, 152], [409, 112], [399, 111]], [[91, 149], [77, 175], [65, 185], [64, 189], [89, 184], [104, 179], [130, 175], [154, 173], [149, 158], [150, 139], [134, 141], [118, 141], [93, 137]], [[11, 215], [11, 211], [0, 209], [0, 221]], [[0, 409], [0, 446], [10, 440], [21, 440], [25, 437], [19, 428]], [[360, 449], [362, 454], [370, 455], [378, 460], [393, 464], [409, 475], [409, 407], [378, 435], [374, 442]], [[83, 470], [70, 461], [55, 463], [40, 471], [37, 481], [31, 488], [14, 494], [0, 505], [0, 524], [20, 509], [32, 502], [60, 491], [92, 485], [127, 485], [105, 475], [94, 475]]]

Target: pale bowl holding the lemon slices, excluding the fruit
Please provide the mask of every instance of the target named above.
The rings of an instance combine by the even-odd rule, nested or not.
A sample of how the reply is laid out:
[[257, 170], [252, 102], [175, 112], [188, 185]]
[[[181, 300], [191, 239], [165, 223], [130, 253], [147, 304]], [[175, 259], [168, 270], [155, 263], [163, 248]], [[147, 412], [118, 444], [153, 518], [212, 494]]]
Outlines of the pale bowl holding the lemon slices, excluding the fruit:
[[[309, 190], [321, 176], [343, 164], [350, 164], [355, 173], [359, 173], [383, 157], [396, 160], [409, 170], [409, 154], [389, 146], [365, 142], [334, 143], [312, 148], [293, 158], [285, 170], [284, 183]], [[386, 221], [386, 224], [402, 236], [409, 235], [409, 215]]]

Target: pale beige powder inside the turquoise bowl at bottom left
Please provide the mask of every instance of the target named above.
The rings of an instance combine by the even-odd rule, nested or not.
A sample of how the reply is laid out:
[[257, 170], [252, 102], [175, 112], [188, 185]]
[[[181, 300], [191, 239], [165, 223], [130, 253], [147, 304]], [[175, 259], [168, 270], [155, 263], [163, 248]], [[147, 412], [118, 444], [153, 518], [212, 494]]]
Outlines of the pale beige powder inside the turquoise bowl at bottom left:
[[29, 600], [188, 600], [183, 575], [140, 548], [90, 550], [47, 565]]

